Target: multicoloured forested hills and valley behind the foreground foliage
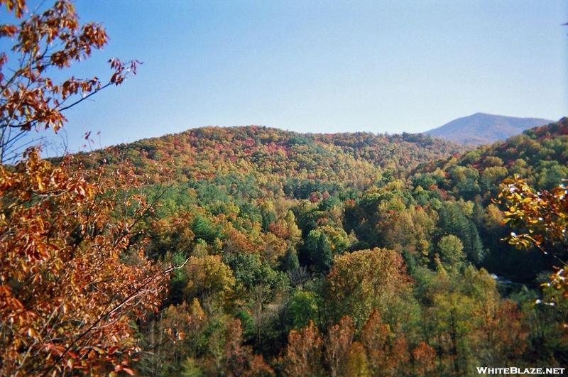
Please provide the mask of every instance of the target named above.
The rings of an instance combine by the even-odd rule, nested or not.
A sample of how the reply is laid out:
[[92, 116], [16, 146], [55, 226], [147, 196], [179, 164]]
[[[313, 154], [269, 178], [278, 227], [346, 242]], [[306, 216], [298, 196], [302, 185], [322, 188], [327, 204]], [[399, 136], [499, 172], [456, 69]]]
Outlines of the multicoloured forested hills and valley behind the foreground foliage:
[[[189, 262], [138, 323], [141, 375], [462, 376], [568, 363], [555, 256], [501, 241], [501, 182], [568, 176], [568, 120], [463, 149], [429, 136], [207, 127], [120, 146], [168, 185], [146, 253]], [[96, 155], [96, 153], [95, 153]], [[83, 155], [84, 162], [93, 155]], [[117, 163], [112, 157], [99, 163]], [[556, 246], [550, 246], [555, 248]]]

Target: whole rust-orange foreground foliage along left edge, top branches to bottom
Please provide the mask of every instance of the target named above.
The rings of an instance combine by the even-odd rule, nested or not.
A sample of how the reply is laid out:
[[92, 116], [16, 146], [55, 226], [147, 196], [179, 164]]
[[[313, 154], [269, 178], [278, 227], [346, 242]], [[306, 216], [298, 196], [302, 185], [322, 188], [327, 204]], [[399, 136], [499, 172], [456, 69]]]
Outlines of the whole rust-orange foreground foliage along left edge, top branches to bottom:
[[111, 58], [106, 83], [58, 82], [48, 74], [102, 48], [104, 28], [81, 25], [67, 0], [40, 14], [23, 0], [0, 6], [22, 20], [0, 25], [2, 46], [15, 40], [0, 52], [0, 374], [133, 373], [132, 321], [158, 307], [168, 276], [133, 237], [155, 204], [138, 191], [143, 177], [127, 162], [86, 170], [18, 146], [29, 131], [58, 131], [63, 111], [124, 82], [136, 62]]

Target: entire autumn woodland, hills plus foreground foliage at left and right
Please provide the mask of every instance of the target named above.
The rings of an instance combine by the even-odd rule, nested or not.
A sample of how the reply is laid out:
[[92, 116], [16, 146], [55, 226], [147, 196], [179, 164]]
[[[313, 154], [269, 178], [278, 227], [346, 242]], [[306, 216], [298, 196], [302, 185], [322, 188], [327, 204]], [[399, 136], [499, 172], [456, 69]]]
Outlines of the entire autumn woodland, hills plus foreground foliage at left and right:
[[55, 82], [102, 26], [67, 1], [0, 5], [26, 57], [0, 71], [1, 376], [568, 366], [567, 118], [475, 149], [209, 126], [44, 159], [14, 152], [21, 135], [57, 131], [136, 61]]

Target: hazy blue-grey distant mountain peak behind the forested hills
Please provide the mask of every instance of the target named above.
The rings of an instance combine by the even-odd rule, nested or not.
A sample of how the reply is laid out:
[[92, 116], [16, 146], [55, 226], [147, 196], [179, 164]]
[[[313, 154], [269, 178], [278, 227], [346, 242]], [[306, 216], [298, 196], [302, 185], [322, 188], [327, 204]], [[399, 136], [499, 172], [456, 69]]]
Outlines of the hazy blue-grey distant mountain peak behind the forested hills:
[[552, 121], [548, 119], [515, 118], [513, 116], [476, 113], [454, 119], [443, 126], [426, 131], [425, 134], [454, 143], [481, 146], [496, 141], [504, 141], [526, 129], [549, 123], [552, 123]]

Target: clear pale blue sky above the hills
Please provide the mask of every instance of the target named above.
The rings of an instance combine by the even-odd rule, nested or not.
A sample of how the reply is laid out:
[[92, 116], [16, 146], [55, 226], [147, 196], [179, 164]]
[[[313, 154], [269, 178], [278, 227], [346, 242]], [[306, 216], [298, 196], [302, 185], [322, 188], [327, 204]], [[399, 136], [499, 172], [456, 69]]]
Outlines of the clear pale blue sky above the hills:
[[[49, 2], [49, 1], [48, 1]], [[476, 112], [568, 115], [566, 0], [77, 0], [138, 75], [67, 112], [70, 148], [200, 126], [422, 132]]]

